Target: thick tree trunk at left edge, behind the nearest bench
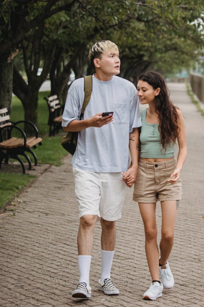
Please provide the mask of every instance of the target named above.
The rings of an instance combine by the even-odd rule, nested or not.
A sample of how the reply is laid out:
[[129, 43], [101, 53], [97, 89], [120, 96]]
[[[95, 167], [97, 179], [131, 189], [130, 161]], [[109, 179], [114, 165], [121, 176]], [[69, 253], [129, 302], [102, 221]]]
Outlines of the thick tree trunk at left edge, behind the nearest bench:
[[8, 56], [0, 57], [0, 108], [6, 107], [11, 113], [13, 92], [13, 60]]

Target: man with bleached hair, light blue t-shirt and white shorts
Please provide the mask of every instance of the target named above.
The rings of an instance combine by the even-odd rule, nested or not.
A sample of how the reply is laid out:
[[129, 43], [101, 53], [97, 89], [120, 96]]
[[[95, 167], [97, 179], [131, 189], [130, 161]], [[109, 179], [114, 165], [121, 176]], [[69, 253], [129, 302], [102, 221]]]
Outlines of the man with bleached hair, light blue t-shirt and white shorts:
[[[102, 270], [99, 290], [119, 294], [110, 279], [116, 220], [121, 218], [125, 186], [131, 187], [138, 169], [138, 127], [141, 126], [135, 86], [116, 75], [120, 73], [117, 45], [98, 41], [91, 46], [89, 59], [95, 67], [91, 99], [80, 119], [84, 79], [69, 88], [63, 113], [65, 131], [80, 131], [72, 158], [76, 199], [79, 204], [79, 284], [72, 297], [91, 297], [89, 271], [93, 231], [97, 220], [102, 227]], [[102, 116], [102, 112], [113, 111]], [[132, 158], [129, 167], [129, 150]]]

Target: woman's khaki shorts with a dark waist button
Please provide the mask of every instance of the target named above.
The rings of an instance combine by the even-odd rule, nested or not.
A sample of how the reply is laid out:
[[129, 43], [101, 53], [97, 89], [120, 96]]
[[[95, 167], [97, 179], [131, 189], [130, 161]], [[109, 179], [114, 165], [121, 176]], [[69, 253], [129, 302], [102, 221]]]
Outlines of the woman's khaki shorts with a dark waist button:
[[164, 162], [147, 162], [139, 159], [133, 200], [139, 203], [155, 203], [182, 198], [181, 178], [174, 184], [168, 182], [176, 168], [176, 159]]

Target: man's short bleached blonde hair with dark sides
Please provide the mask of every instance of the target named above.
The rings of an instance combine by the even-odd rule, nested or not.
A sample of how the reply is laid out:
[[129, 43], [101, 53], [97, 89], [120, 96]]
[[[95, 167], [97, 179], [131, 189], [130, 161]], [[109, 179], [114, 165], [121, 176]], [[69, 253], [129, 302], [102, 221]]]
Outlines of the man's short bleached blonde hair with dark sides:
[[91, 45], [88, 56], [89, 60], [91, 60], [91, 64], [94, 66], [94, 59], [97, 57], [100, 58], [100, 56], [108, 50], [114, 50], [119, 53], [117, 45], [112, 41], [97, 41], [96, 43]]

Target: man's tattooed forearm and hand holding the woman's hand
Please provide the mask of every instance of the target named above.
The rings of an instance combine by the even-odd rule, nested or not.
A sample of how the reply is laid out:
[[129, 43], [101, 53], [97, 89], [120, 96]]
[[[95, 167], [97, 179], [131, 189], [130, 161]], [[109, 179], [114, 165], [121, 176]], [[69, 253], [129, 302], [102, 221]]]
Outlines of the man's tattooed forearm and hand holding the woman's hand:
[[139, 161], [139, 128], [134, 128], [129, 134], [129, 150], [131, 155], [131, 164], [127, 172], [123, 173], [125, 184], [131, 188], [137, 177]]

